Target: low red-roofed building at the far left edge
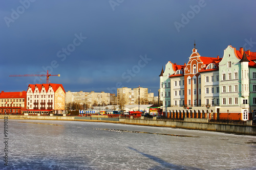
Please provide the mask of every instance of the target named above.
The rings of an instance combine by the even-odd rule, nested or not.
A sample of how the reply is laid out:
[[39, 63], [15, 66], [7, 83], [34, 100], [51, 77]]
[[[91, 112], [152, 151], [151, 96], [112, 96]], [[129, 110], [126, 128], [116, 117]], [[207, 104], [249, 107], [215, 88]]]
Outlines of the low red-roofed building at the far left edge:
[[26, 108], [26, 91], [0, 92], [0, 113], [20, 114]]

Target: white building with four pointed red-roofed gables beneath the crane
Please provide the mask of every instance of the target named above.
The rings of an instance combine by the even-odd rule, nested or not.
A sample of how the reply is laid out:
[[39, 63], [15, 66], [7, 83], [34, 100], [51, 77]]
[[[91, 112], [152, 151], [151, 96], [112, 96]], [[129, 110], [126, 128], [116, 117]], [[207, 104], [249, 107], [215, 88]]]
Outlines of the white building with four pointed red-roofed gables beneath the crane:
[[27, 114], [62, 114], [65, 112], [65, 89], [61, 84], [29, 84]]

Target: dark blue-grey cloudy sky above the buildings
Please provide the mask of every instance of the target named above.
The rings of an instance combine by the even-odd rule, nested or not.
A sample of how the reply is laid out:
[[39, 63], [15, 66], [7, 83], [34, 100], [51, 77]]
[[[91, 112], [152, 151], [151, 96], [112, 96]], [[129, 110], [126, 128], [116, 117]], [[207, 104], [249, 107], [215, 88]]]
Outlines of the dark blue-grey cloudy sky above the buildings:
[[[196, 47], [220, 57], [231, 43], [256, 52], [256, 1], [22, 0], [0, 2], [0, 90], [51, 83], [66, 91], [155, 93], [168, 61], [184, 64]], [[40, 80], [41, 79], [41, 80]]]

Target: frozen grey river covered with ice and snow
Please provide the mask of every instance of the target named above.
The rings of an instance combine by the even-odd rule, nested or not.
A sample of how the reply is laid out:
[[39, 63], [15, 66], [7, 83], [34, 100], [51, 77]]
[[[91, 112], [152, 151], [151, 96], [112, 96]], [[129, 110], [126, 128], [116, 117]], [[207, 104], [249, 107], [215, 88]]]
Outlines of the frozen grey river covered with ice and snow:
[[256, 169], [256, 136], [219, 132], [9, 119], [4, 147], [0, 169]]

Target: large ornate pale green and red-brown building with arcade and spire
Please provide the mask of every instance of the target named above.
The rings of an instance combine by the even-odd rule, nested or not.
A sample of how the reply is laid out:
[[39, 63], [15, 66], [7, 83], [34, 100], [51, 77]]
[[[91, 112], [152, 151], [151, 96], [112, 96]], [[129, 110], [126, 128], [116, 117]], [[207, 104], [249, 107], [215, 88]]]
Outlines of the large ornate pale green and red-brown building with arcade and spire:
[[[237, 51], [229, 45], [223, 58], [202, 57], [194, 45], [184, 67], [173, 69], [174, 73], [168, 76], [168, 80], [163, 69], [160, 74], [159, 98], [163, 100], [166, 116], [255, 119], [256, 53], [245, 52], [243, 48]], [[168, 90], [170, 99], [165, 94]]]

